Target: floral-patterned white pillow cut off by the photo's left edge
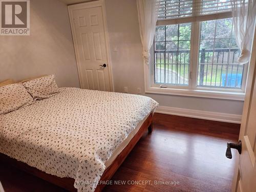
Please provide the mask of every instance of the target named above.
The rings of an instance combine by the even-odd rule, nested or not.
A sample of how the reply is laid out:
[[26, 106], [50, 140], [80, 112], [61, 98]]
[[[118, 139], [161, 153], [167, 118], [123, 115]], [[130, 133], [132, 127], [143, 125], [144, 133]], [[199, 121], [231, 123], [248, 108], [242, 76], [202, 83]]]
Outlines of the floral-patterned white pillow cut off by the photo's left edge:
[[33, 102], [22, 83], [0, 87], [0, 115], [19, 109]]

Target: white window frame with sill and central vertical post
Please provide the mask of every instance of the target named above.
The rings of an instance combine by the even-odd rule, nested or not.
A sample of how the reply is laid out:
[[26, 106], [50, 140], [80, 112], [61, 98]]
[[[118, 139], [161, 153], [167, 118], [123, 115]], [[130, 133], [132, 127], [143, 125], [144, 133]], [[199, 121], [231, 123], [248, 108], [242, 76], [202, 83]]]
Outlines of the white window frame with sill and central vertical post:
[[[232, 17], [231, 12], [217, 13], [211, 15], [205, 15], [205, 20], [215, 20], [222, 18]], [[194, 17], [195, 18], [195, 17]], [[202, 20], [201, 20], [202, 19]], [[198, 65], [199, 65], [199, 48], [200, 48], [200, 22], [204, 18], [200, 17], [200, 20], [187, 20], [187, 18], [159, 20], [157, 26], [173, 25], [191, 22], [191, 40], [190, 40], [190, 63], [189, 63], [189, 83], [188, 86], [180, 86], [174, 84], [163, 84], [160, 88], [160, 84], [155, 83], [154, 79], [154, 45], [151, 49], [151, 61], [150, 65], [144, 65], [144, 81], [145, 81], [145, 93], [156, 93], [165, 95], [181, 95], [192, 97], [207, 97], [218, 98], [228, 100], [241, 100], [245, 98], [246, 81], [248, 74], [248, 63], [244, 67], [243, 79], [241, 89], [232, 88], [214, 88], [214, 87], [198, 87]]]

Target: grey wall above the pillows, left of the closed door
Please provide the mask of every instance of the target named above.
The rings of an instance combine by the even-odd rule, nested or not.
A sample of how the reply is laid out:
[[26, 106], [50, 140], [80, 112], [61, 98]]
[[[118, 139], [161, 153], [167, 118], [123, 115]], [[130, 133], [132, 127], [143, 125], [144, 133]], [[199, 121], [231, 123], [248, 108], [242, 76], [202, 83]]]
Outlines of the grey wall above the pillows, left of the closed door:
[[30, 1], [30, 36], [0, 36], [0, 81], [56, 74], [59, 86], [79, 87], [67, 5]]

